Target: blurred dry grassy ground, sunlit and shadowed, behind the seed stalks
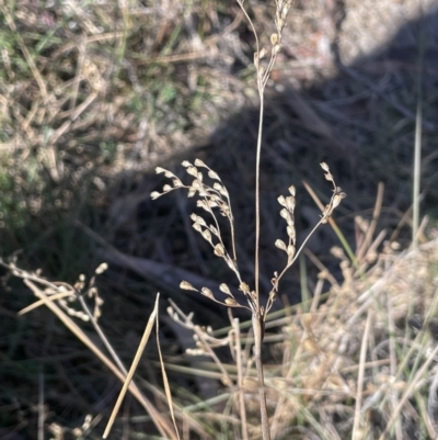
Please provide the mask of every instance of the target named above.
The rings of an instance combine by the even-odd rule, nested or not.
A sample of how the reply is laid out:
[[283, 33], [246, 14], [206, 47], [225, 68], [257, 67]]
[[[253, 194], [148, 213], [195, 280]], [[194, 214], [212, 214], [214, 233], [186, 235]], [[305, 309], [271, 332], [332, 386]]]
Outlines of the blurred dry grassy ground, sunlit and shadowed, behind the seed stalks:
[[[379, 438], [392, 415], [397, 440], [402, 431], [417, 430], [417, 438], [433, 438], [436, 431], [430, 350], [437, 274], [438, 19], [433, 7], [425, 2], [423, 15], [407, 0], [360, 5], [298, 1], [291, 8], [266, 90], [261, 252], [267, 275], [261, 284], [268, 292], [268, 274], [284, 263], [273, 246], [284, 234], [277, 196], [297, 187], [296, 224], [302, 241], [320, 215], [303, 181], [328, 202], [318, 166], [322, 161], [348, 193], [336, 223], [357, 261], [353, 264], [346, 250], [331, 250], [339, 242], [326, 227], [285, 277], [266, 330], [267, 386], [273, 393], [267, 402], [277, 438], [344, 439], [353, 430], [357, 438]], [[252, 1], [247, 8], [262, 45], [267, 44], [274, 4]], [[162, 185], [151, 173], [155, 166], [177, 172], [183, 159], [204, 160], [231, 194], [240, 269], [253, 273], [258, 98], [254, 38], [238, 4], [0, 0], [0, 48], [3, 261], [12, 256], [19, 268], [41, 270], [47, 280], [71, 285], [80, 285], [81, 273], [90, 280], [107, 261], [110, 269], [97, 278], [104, 300], [100, 324], [126, 364], [157, 290], [184, 313], [195, 312], [196, 324], [215, 329], [229, 325], [226, 311], [178, 290], [187, 277], [205, 285], [229, 281], [227, 268], [192, 230], [193, 205], [177, 195], [152, 204], [149, 194]], [[419, 234], [423, 247], [404, 252], [411, 242], [418, 79], [424, 97], [422, 212], [429, 219]], [[61, 427], [79, 436], [73, 429], [91, 414], [93, 422], [85, 428], [93, 428], [91, 438], [97, 437], [102, 429], [93, 424], [97, 415], [107, 417], [117, 380], [47, 308], [16, 316], [34, 300], [9, 271], [3, 275], [1, 435], [15, 430], [23, 438], [36, 437], [39, 386], [45, 391], [46, 432], [56, 437]], [[90, 289], [85, 282], [83, 291]], [[307, 294], [310, 303], [289, 308]], [[319, 295], [325, 303], [316, 307]], [[369, 312], [370, 304], [376, 313]], [[69, 307], [80, 309], [76, 303]], [[183, 354], [193, 349], [192, 331], [165, 318], [164, 301], [161, 307], [169, 380], [175, 402], [191, 414], [186, 437], [217, 438], [219, 431], [223, 438], [240, 436], [232, 394], [227, 394], [221, 375], [209, 358]], [[313, 317], [303, 317], [304, 312]], [[82, 325], [94, 331], [90, 323]], [[220, 337], [228, 329], [217, 331]], [[157, 351], [149, 343], [138, 377], [165, 413]], [[365, 358], [361, 347], [368, 350]], [[229, 351], [219, 348], [218, 353], [234, 374]], [[336, 373], [328, 371], [332, 364]], [[397, 410], [410, 386], [403, 411]], [[274, 413], [269, 405], [278, 395], [281, 405]], [[256, 438], [254, 400], [249, 397], [247, 426]], [[355, 407], [356, 402], [361, 406]], [[223, 414], [227, 422], [220, 421]], [[127, 427], [128, 437], [154, 429], [134, 399], [125, 415], [127, 421], [119, 421], [114, 438]]]

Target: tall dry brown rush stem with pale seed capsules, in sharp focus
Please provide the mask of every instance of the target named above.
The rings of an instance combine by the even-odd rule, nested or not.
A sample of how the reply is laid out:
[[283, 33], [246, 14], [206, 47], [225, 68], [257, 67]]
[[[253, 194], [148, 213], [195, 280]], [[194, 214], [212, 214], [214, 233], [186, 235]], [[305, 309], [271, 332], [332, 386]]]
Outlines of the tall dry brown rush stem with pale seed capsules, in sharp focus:
[[[286, 253], [286, 263], [281, 271], [275, 272], [272, 278], [272, 289], [267, 295], [266, 304], [261, 304], [260, 293], [260, 229], [261, 229], [261, 214], [260, 214], [260, 169], [261, 169], [261, 150], [262, 150], [262, 135], [263, 135], [263, 117], [264, 117], [264, 93], [270, 72], [276, 61], [277, 54], [281, 48], [281, 35], [286, 25], [286, 18], [289, 12], [291, 0], [276, 0], [276, 16], [275, 27], [276, 32], [270, 35], [270, 48], [269, 50], [261, 47], [260, 38], [255, 26], [243, 4], [243, 1], [238, 3], [242, 9], [255, 37], [256, 49], [254, 53], [254, 66], [256, 72], [257, 91], [260, 95], [260, 121], [258, 121], [258, 133], [257, 133], [257, 145], [256, 145], [256, 165], [255, 165], [255, 256], [254, 256], [254, 280], [244, 280], [240, 269], [239, 259], [237, 255], [235, 246], [235, 225], [234, 217], [231, 207], [230, 194], [222, 183], [217, 172], [210, 169], [204, 161], [196, 159], [194, 163], [187, 160], [183, 161], [183, 167], [191, 178], [192, 182], [185, 184], [178, 177], [170, 170], [158, 167], [158, 173], [164, 173], [164, 176], [171, 180], [170, 184], [164, 184], [162, 192], [152, 192], [151, 198], [158, 199], [163, 194], [168, 194], [174, 190], [185, 189], [187, 190], [188, 198], [197, 198], [197, 207], [204, 215], [193, 213], [191, 219], [193, 222], [193, 228], [198, 232], [201, 237], [211, 246], [214, 253], [223, 259], [230, 270], [237, 278], [237, 287], [230, 287], [226, 283], [219, 285], [219, 290], [226, 295], [224, 300], [218, 300], [217, 295], [206, 286], [194, 286], [187, 281], [181, 282], [181, 289], [195, 291], [204, 296], [207, 296], [211, 301], [223, 305], [226, 307], [240, 307], [246, 308], [252, 314], [252, 329], [254, 334], [254, 362], [257, 371], [257, 388], [260, 394], [261, 403], [261, 422], [263, 439], [270, 439], [269, 433], [269, 418], [266, 405], [266, 394], [264, 384], [264, 371], [262, 363], [262, 343], [264, 338], [264, 327], [266, 314], [272, 308], [274, 301], [279, 290], [279, 282], [285, 272], [295, 263], [300, 251], [303, 249], [306, 242], [313, 235], [316, 228], [321, 224], [327, 223], [334, 208], [338, 206], [341, 201], [346, 196], [339, 187], [336, 185], [335, 180], [330, 172], [328, 166], [323, 162], [321, 163], [322, 169], [325, 173], [325, 179], [333, 184], [333, 194], [330, 203], [325, 206], [321, 213], [321, 218], [314, 226], [309, 236], [297, 249], [297, 234], [295, 228], [295, 208], [296, 208], [296, 189], [295, 187], [289, 188], [288, 195], [280, 195], [278, 203], [280, 204], [280, 215], [286, 221], [287, 241], [277, 239], [275, 246]], [[270, 53], [267, 57], [267, 53]], [[221, 225], [219, 216], [226, 218], [231, 235], [231, 244], [227, 245], [222, 239]], [[241, 304], [235, 297], [235, 291], [240, 291], [245, 300], [246, 304]], [[245, 438], [245, 436], [242, 436]]]

